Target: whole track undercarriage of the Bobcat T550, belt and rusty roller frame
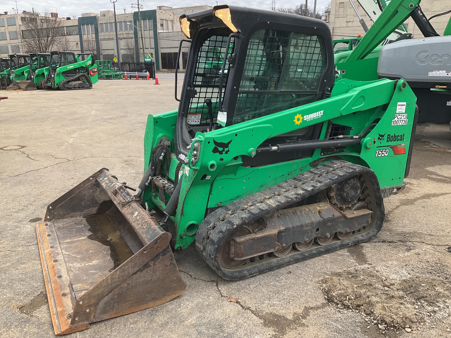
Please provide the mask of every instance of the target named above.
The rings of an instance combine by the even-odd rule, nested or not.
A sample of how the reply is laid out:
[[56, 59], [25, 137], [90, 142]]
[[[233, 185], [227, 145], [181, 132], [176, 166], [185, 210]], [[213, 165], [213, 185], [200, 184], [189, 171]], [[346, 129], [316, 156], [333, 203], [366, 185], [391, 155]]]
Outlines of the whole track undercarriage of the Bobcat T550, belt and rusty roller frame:
[[[337, 207], [343, 195], [352, 204]], [[215, 210], [200, 224], [196, 248], [216, 273], [238, 280], [366, 242], [383, 219], [374, 174], [332, 161]]]

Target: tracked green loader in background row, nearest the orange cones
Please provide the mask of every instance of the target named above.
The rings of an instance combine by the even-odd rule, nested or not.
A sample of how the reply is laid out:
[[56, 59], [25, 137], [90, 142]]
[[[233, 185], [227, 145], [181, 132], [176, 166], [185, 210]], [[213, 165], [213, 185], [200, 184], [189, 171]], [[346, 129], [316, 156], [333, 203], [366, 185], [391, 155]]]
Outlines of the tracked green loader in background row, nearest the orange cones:
[[91, 89], [99, 81], [97, 64], [89, 54], [87, 59], [79, 60], [73, 52], [51, 51], [50, 65], [41, 69], [36, 86], [44, 89]]

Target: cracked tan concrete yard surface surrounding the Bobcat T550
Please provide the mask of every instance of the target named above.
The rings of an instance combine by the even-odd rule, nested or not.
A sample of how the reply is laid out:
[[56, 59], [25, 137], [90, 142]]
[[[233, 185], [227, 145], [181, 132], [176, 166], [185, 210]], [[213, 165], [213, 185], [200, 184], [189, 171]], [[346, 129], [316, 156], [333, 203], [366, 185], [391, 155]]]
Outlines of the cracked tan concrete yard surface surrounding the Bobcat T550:
[[[1, 337], [54, 337], [35, 222], [49, 203], [102, 167], [138, 185], [147, 114], [178, 106], [173, 80], [160, 82], [100, 81], [89, 91], [13, 92], [1, 101]], [[238, 282], [219, 278], [190, 246], [175, 254], [187, 283], [183, 295], [71, 337], [378, 337], [377, 325], [367, 329], [358, 313], [330, 306], [320, 281], [359, 267], [391, 280], [449, 285], [450, 163], [448, 126], [423, 123], [409, 184], [385, 200], [386, 221], [371, 242]], [[437, 320], [415, 336], [451, 337], [448, 324]]]

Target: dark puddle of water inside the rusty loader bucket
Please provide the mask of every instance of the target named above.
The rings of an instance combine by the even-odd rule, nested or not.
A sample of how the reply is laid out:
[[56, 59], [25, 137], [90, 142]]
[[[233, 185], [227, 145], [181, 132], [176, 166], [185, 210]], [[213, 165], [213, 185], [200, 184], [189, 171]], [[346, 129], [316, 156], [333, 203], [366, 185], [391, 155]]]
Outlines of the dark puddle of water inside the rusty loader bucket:
[[133, 256], [133, 251], [124, 241], [108, 214], [87, 216], [86, 222], [90, 226], [89, 231], [92, 232], [87, 238], [110, 247], [110, 257], [114, 262], [113, 269]]

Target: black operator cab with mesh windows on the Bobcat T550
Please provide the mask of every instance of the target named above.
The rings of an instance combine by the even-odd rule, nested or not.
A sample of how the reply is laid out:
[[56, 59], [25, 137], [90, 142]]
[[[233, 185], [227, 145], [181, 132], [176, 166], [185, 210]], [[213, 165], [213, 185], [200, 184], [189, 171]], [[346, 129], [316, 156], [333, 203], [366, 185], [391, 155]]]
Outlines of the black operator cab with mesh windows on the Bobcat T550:
[[[179, 50], [183, 43], [190, 46], [176, 127], [179, 158], [187, 154], [196, 132], [330, 97], [335, 68], [332, 40], [321, 20], [220, 5], [182, 15], [180, 26], [190, 40], [182, 40]], [[321, 127], [322, 123], [299, 128], [267, 143], [318, 139]], [[277, 153], [275, 157], [284, 158], [270, 161], [304, 155]], [[249, 165], [258, 165], [258, 160], [250, 161]]]

